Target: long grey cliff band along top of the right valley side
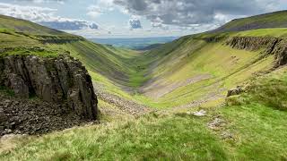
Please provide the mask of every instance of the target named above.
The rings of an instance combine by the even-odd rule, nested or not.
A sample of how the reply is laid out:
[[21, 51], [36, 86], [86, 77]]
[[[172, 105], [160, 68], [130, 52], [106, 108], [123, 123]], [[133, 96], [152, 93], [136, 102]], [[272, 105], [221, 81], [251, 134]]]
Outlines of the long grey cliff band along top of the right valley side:
[[274, 67], [287, 64], [287, 39], [274, 37], [233, 37], [226, 45], [244, 50], [257, 51], [262, 55], [274, 55]]

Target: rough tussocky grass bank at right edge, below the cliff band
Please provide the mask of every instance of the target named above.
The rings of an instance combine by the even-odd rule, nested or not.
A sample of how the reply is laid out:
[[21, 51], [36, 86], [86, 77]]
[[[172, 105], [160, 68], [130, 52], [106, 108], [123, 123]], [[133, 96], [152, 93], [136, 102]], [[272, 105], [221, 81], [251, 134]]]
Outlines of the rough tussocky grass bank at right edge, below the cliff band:
[[228, 103], [230, 105], [241, 105], [257, 102], [276, 110], [287, 111], [286, 95], [287, 75], [283, 68], [279, 72], [249, 80], [246, 93], [240, 97], [230, 97]]

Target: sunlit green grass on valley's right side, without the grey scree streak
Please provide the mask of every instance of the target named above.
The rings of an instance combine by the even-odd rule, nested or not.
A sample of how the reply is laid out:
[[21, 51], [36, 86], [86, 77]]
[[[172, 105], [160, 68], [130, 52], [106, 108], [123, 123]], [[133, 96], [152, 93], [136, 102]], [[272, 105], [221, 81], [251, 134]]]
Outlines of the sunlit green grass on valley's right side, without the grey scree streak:
[[[259, 33], [259, 31], [256, 32]], [[230, 33], [225, 36], [230, 38], [240, 34], [253, 36], [254, 33]], [[147, 94], [156, 93], [166, 89], [170, 84], [177, 84], [203, 74], [211, 77], [208, 80], [171, 90], [157, 99], [144, 99], [146, 104], [155, 107], [182, 106], [208, 93], [218, 93], [224, 97], [226, 89], [236, 87], [244, 80], [248, 80], [254, 72], [267, 69], [272, 64], [273, 56], [254, 64], [260, 56], [259, 51], [232, 49], [224, 45], [226, 38], [211, 43], [203, 40], [211, 36], [213, 35], [204, 34], [180, 38], [141, 57], [141, 60], [153, 61], [147, 62], [147, 64], [152, 63], [150, 67], [143, 64], [149, 69], [146, 70], [149, 72], [149, 79], [153, 80], [143, 88], [147, 90]], [[143, 99], [143, 97], [140, 98]]]

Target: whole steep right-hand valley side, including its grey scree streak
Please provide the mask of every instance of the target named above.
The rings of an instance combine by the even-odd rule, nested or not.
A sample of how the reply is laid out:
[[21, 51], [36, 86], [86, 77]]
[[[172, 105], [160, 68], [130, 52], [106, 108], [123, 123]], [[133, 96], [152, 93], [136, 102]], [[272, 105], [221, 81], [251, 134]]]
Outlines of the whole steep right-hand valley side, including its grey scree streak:
[[[283, 30], [277, 31], [284, 34]], [[248, 50], [228, 43], [243, 35], [252, 39], [252, 33], [187, 36], [145, 53], [138, 60], [150, 60], [142, 64], [148, 81], [139, 87], [139, 92], [150, 97], [145, 103], [157, 107], [218, 105], [224, 101], [228, 89], [274, 66], [277, 56], [262, 54], [264, 46]], [[272, 44], [273, 38], [269, 40]], [[260, 44], [256, 40], [247, 42], [242, 43], [250, 47]]]

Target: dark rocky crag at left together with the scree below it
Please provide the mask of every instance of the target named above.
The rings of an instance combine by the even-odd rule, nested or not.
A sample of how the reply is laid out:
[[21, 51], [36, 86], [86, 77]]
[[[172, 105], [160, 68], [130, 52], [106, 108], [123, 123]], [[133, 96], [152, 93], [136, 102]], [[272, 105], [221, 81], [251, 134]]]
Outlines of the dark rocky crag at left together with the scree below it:
[[13, 93], [13, 97], [0, 97], [0, 135], [41, 133], [97, 119], [98, 100], [91, 76], [67, 54], [1, 56], [0, 87]]

